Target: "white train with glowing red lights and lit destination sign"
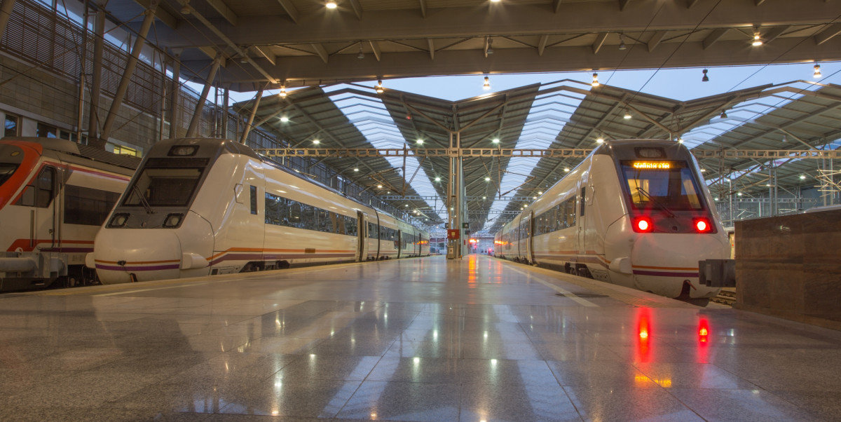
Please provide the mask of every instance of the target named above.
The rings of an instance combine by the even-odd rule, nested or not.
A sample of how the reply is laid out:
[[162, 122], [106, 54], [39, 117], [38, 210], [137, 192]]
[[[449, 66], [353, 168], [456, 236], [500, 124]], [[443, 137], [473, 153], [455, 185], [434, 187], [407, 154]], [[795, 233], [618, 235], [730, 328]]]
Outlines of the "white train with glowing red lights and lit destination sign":
[[495, 255], [669, 298], [717, 295], [698, 261], [730, 246], [684, 145], [616, 140], [597, 147], [495, 235]]

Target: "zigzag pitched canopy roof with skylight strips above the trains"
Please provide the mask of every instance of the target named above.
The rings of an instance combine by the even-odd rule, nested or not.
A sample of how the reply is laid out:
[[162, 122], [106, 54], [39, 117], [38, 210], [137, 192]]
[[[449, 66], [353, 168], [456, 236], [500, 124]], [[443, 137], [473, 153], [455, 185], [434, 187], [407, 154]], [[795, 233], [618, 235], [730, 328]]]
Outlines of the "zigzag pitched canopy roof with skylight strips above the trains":
[[[241, 102], [234, 108], [247, 116], [253, 104]], [[255, 121], [298, 148], [446, 149], [451, 134], [458, 132], [463, 148], [590, 150], [602, 138], [682, 141], [693, 150], [836, 149], [841, 86], [796, 81], [678, 101], [563, 80], [448, 101], [336, 84], [294, 90], [286, 98], [266, 96]], [[470, 229], [493, 235], [581, 158], [463, 160]], [[432, 222], [446, 218], [445, 156], [342, 156], [322, 161], [397, 208], [417, 209]], [[711, 191], [722, 196], [767, 193], [771, 168], [777, 186], [791, 191], [815, 186], [820, 177], [816, 160], [728, 157], [701, 158], [700, 164]], [[801, 178], [804, 175], [807, 179]]]

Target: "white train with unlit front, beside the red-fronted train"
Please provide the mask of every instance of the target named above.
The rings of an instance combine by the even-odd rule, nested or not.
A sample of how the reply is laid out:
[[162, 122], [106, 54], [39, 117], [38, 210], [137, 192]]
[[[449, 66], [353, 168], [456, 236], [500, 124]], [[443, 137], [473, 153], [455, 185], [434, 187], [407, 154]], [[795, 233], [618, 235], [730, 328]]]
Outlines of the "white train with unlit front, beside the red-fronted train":
[[99, 231], [103, 283], [429, 254], [429, 234], [232, 140], [154, 145]]

